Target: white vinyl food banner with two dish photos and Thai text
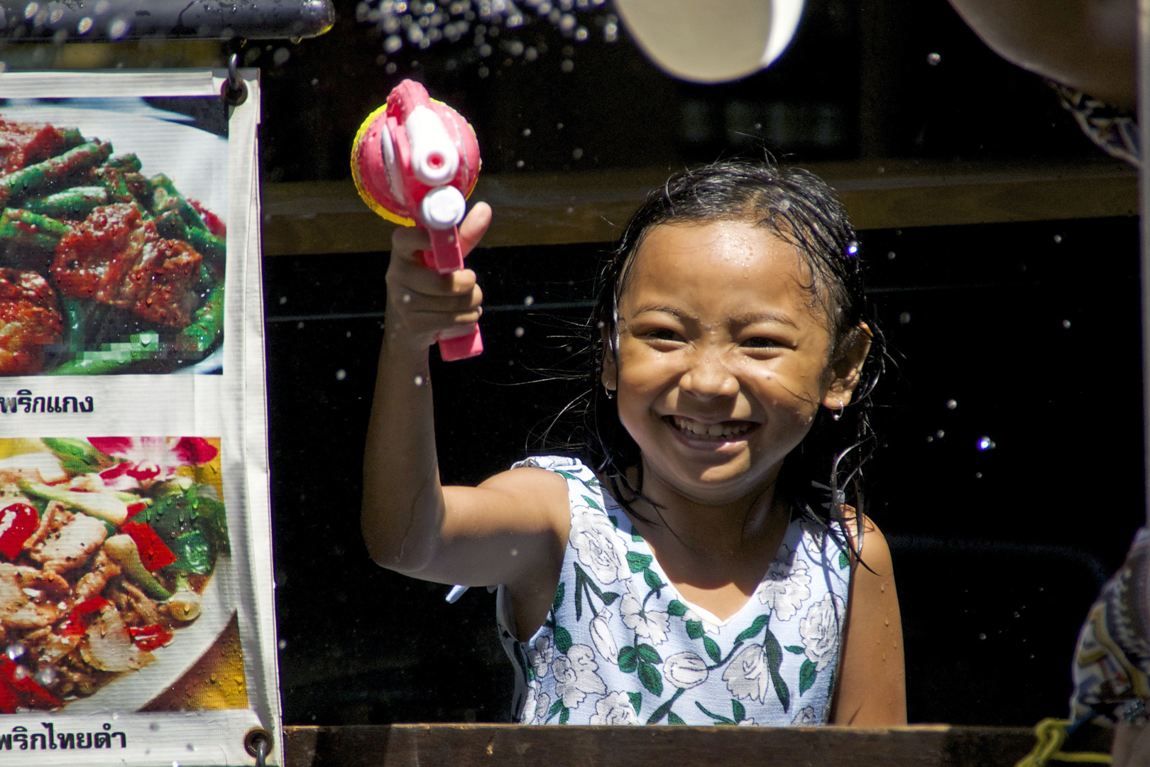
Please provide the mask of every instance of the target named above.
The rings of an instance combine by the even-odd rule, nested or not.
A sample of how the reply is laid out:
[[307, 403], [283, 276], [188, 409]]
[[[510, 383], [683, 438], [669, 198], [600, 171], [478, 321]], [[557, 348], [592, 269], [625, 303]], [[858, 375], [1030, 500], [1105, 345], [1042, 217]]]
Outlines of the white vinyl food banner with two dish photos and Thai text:
[[0, 765], [278, 733], [259, 83], [224, 77], [0, 75]]

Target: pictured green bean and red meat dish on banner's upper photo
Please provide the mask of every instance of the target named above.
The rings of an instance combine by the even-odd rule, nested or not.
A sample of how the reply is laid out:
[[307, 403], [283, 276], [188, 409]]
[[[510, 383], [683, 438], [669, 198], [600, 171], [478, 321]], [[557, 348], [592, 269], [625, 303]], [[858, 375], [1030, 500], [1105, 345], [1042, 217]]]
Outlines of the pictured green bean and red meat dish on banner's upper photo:
[[0, 375], [167, 373], [222, 340], [223, 222], [112, 152], [0, 118]]

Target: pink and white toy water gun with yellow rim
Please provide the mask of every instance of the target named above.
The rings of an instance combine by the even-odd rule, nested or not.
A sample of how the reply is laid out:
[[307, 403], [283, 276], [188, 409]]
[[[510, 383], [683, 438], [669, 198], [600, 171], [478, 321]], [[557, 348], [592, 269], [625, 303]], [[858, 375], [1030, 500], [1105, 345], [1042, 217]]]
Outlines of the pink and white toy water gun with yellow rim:
[[[463, 268], [459, 223], [480, 176], [480, 144], [470, 123], [427, 89], [405, 79], [355, 133], [352, 178], [368, 207], [388, 221], [431, 235], [423, 266], [442, 275]], [[438, 336], [439, 355], [461, 360], [483, 352], [478, 325]]]

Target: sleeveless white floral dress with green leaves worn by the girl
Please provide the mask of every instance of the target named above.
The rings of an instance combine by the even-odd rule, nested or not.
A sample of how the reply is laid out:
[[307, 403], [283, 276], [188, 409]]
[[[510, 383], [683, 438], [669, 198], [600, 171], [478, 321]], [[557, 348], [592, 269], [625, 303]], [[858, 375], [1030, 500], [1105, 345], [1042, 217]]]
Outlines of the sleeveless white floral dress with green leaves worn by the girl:
[[546, 622], [504, 649], [523, 724], [822, 724], [846, 615], [843, 536], [795, 520], [747, 603], [726, 621], [684, 599], [619, 504], [575, 459], [516, 466], [567, 481], [572, 527]]

